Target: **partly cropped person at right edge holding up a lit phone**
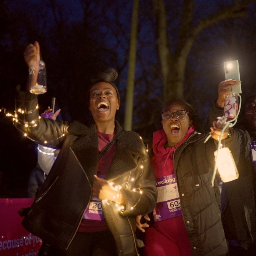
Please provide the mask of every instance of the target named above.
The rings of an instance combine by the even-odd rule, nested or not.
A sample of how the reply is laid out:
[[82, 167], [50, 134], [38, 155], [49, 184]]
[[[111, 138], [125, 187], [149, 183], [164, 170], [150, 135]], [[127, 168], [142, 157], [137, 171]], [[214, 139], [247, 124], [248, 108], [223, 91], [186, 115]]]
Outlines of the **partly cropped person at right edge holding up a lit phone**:
[[[223, 116], [224, 99], [231, 92], [236, 80], [225, 80], [218, 87], [218, 98], [209, 111], [208, 125], [217, 116]], [[221, 190], [221, 218], [231, 256], [252, 256], [256, 251], [256, 94], [242, 102], [237, 128], [249, 132], [249, 140], [240, 140], [237, 146], [245, 144], [236, 164], [239, 177], [223, 182]], [[247, 133], [248, 134], [248, 133]], [[254, 165], [254, 167], [253, 167]]]

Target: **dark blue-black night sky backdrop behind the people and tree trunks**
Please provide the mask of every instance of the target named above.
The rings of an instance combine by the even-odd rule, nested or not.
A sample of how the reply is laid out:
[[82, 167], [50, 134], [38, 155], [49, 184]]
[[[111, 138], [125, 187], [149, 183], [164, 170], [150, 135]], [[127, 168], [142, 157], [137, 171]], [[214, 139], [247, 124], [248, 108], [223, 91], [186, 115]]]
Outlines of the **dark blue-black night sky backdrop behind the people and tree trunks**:
[[[232, 2], [225, 1], [225, 4]], [[148, 3], [140, 0], [134, 88], [136, 127], [140, 127], [141, 120], [147, 119], [153, 108], [161, 109], [162, 102], [156, 22]], [[219, 0], [195, 1], [193, 24], [220, 11], [221, 4], [223, 1]], [[165, 1], [165, 6], [174, 52], [182, 1]], [[0, 108], [13, 112], [15, 88], [20, 84], [24, 89], [28, 76], [23, 51], [37, 40], [46, 62], [48, 83], [48, 92], [39, 96], [41, 112], [55, 96], [62, 120], [89, 120], [84, 95], [86, 83], [90, 81], [92, 67], [102, 64], [119, 71], [116, 84], [122, 103], [117, 119], [123, 124], [132, 1], [19, 0], [3, 1], [0, 7]], [[251, 4], [248, 17], [224, 20], [205, 29], [191, 48], [184, 97], [192, 103], [203, 123], [217, 97], [218, 84], [225, 78], [224, 61], [239, 60], [242, 96], [255, 88], [256, 40], [252, 36], [256, 28], [255, 9], [255, 4]], [[26, 197], [28, 176], [36, 164], [36, 144], [24, 138], [3, 112], [0, 113], [0, 129], [0, 197]], [[154, 130], [156, 126], [138, 128], [137, 132], [145, 134], [149, 140]]]

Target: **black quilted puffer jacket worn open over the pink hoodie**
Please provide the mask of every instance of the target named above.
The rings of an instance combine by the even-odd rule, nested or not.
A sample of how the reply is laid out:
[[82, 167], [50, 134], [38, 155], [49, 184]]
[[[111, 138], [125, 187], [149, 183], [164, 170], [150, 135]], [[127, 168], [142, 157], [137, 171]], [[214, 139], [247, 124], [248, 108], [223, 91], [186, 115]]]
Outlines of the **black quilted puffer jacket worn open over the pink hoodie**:
[[[194, 132], [175, 149], [174, 171], [180, 195], [183, 220], [194, 256], [227, 255], [228, 248], [220, 217], [220, 190], [212, 188], [214, 140]], [[233, 140], [225, 143], [232, 148]], [[236, 152], [239, 154], [239, 152]]]

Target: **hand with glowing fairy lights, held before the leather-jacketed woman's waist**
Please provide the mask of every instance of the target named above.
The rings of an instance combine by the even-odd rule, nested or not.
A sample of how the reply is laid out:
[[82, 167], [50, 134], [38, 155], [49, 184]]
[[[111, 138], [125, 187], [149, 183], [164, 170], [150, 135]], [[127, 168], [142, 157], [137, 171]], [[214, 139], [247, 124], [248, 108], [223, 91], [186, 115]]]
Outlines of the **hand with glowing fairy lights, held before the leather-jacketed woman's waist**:
[[109, 185], [108, 181], [94, 175], [92, 184], [92, 196], [98, 197], [100, 200], [107, 199], [118, 204], [125, 204], [125, 199], [121, 191]]

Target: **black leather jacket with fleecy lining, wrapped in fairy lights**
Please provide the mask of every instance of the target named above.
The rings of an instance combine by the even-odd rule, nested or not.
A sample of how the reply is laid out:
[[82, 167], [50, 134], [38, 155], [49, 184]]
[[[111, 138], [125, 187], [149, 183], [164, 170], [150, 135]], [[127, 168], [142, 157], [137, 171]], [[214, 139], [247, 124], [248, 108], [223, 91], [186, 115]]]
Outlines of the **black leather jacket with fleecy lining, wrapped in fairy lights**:
[[[87, 127], [78, 122], [68, 126], [51, 119], [41, 118], [38, 121], [36, 105], [37, 97], [21, 93], [15, 107], [19, 121], [14, 124], [36, 142], [44, 143], [46, 140], [49, 141], [47, 146], [61, 150], [22, 224], [45, 242], [67, 249], [90, 201], [93, 175], [97, 172], [98, 163], [97, 131], [95, 125]], [[19, 108], [25, 109], [28, 114], [18, 112]], [[22, 125], [32, 120], [36, 121], [36, 127], [25, 128]], [[122, 128], [116, 122], [116, 133], [120, 130]], [[107, 204], [102, 201], [118, 254], [138, 255], [134, 235], [135, 216], [153, 210], [157, 190], [149, 156], [137, 133], [124, 131], [117, 139], [106, 179], [122, 185], [121, 191], [126, 201], [126, 211], [119, 211], [113, 202]]]

